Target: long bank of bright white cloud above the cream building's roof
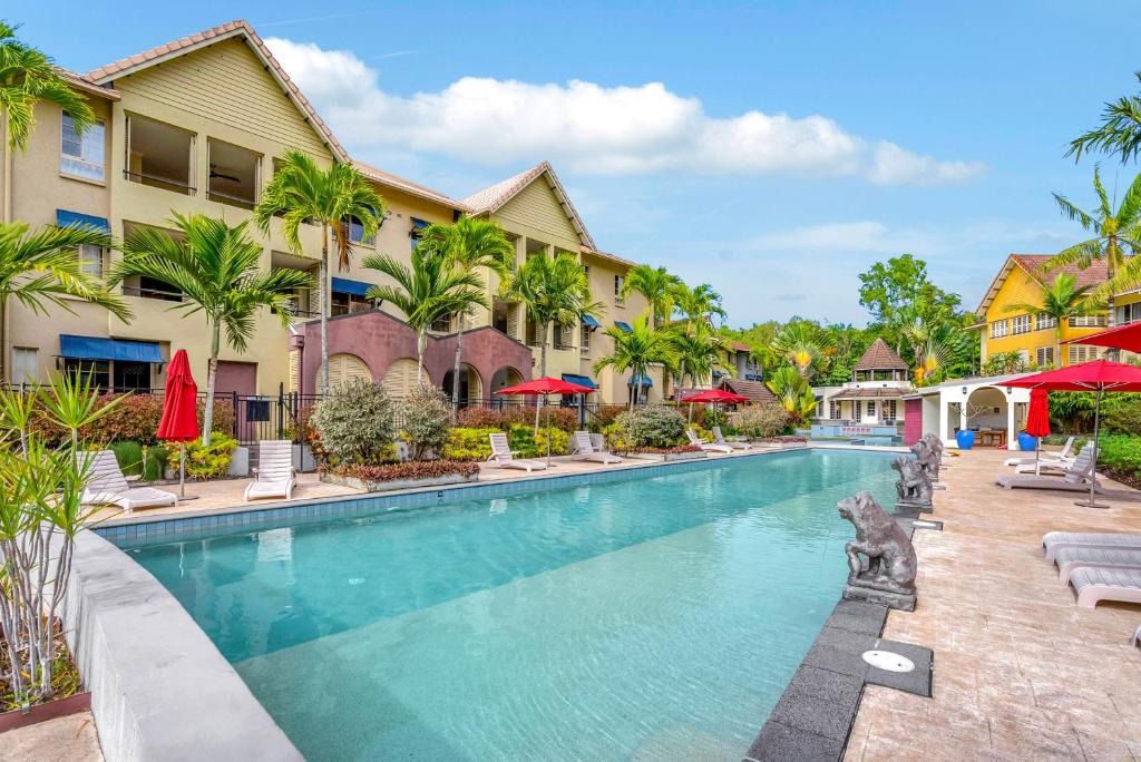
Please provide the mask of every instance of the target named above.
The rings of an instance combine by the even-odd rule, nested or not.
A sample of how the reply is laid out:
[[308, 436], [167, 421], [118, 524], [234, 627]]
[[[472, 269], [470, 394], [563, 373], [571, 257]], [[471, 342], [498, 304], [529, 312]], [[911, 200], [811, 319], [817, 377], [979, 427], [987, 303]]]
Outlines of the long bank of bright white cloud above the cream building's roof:
[[962, 183], [980, 162], [940, 161], [851, 135], [825, 116], [705, 113], [661, 82], [602, 87], [464, 76], [438, 92], [385, 92], [351, 51], [266, 43], [356, 151], [399, 149], [499, 165], [552, 159], [580, 173], [861, 177], [881, 185]]

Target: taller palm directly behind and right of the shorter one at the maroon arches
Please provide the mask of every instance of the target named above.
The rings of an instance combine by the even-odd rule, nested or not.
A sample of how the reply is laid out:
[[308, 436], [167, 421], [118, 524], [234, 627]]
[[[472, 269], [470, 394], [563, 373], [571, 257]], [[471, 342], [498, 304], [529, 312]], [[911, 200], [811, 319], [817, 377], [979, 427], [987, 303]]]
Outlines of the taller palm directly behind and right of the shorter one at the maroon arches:
[[[511, 271], [515, 259], [515, 246], [497, 222], [467, 214], [452, 225], [429, 225], [420, 236], [420, 245], [442, 252], [453, 266], [466, 273], [486, 267], [500, 277], [500, 282]], [[452, 410], [460, 408], [460, 365], [467, 310], [461, 310], [459, 318], [455, 365], [452, 370]]]

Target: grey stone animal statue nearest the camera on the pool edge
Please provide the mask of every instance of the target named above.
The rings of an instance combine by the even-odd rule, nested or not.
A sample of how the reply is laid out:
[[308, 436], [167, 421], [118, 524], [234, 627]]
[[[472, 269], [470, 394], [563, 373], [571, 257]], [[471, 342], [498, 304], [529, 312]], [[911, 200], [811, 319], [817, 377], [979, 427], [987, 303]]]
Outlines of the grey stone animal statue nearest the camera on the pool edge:
[[[836, 508], [856, 527], [856, 540], [844, 545], [850, 572], [843, 597], [915, 610], [916, 560], [912, 541], [867, 492], [845, 497]], [[866, 564], [861, 556], [867, 558]]]

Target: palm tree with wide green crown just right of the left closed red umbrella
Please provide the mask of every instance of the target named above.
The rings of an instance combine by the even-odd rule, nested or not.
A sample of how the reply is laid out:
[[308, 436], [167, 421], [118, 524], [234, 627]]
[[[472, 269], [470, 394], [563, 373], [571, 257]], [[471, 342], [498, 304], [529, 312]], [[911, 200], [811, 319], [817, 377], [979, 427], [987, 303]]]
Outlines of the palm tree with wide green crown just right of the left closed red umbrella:
[[202, 444], [209, 447], [222, 330], [227, 344], [245, 351], [253, 338], [258, 308], [268, 307], [281, 316], [282, 325], [288, 325], [294, 290], [311, 287], [313, 278], [302, 270], [262, 270], [261, 245], [245, 232], [249, 220], [230, 227], [221, 218], [175, 212], [171, 224], [179, 233], [177, 238], [156, 228], [131, 230], [123, 241], [123, 260], [111, 281], [119, 283], [129, 275], [141, 275], [169, 283], [183, 293], [183, 301], [171, 309], [205, 315], [210, 363]]

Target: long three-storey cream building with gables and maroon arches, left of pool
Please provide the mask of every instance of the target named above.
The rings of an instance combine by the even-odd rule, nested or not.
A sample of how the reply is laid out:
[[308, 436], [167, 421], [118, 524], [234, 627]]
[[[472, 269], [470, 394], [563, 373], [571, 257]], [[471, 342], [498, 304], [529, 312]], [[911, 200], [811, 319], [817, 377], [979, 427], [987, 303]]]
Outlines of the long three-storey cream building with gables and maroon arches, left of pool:
[[[232, 22], [103, 66], [70, 74], [84, 94], [98, 123], [78, 135], [58, 107], [37, 108], [37, 130], [26, 152], [3, 152], [2, 214], [33, 228], [76, 221], [95, 225], [122, 238], [139, 227], [170, 228], [173, 213], [221, 217], [235, 225], [249, 221], [275, 164], [291, 148], [318, 163], [353, 162], [253, 29]], [[592, 298], [605, 305], [599, 317], [553, 326], [547, 337], [520, 307], [494, 299], [497, 283], [488, 278], [491, 310], [467, 321], [461, 395], [488, 398], [497, 389], [537, 373], [545, 341], [547, 372], [589, 380], [599, 388], [591, 402], [625, 402], [636, 382], [649, 399], [661, 398], [661, 371], [631, 380], [615, 373], [594, 378], [593, 363], [610, 349], [599, 331], [620, 329], [646, 309], [637, 294], [621, 297], [633, 262], [599, 251], [563, 185], [545, 162], [464, 200], [427, 188], [381, 169], [354, 162], [375, 184], [388, 214], [371, 240], [348, 221], [355, 252], [348, 270], [330, 267], [330, 376], [343, 381], [367, 376], [403, 395], [415, 380], [415, 342], [411, 329], [390, 306], [365, 299], [369, 286], [383, 282], [361, 267], [365, 256], [407, 256], [419, 230], [431, 222], [451, 222], [460, 214], [499, 221], [516, 245], [516, 261], [531, 256], [568, 252], [590, 274]], [[268, 235], [252, 227], [264, 246], [262, 266], [296, 268], [314, 276], [321, 254], [316, 226], [302, 230], [302, 251], [292, 251], [281, 225]], [[78, 252], [84, 268], [103, 275], [115, 252]], [[196, 373], [204, 372], [209, 338], [201, 315], [171, 310], [181, 295], [169, 284], [128, 278], [122, 285], [133, 318], [122, 322], [104, 309], [68, 301], [72, 311], [35, 315], [10, 302], [3, 316], [2, 351], [7, 381], [42, 381], [54, 371], [92, 373], [105, 388], [145, 390], [161, 387], [164, 365], [186, 349]], [[270, 395], [278, 389], [317, 389], [319, 347], [316, 293], [298, 293], [291, 324], [264, 313], [246, 351], [224, 347], [218, 391]], [[334, 327], [335, 326], [335, 327]], [[454, 321], [432, 326], [426, 370], [432, 383], [450, 390]], [[411, 340], [411, 342], [410, 342]], [[411, 349], [410, 349], [411, 347]], [[452, 347], [453, 349], [450, 349]], [[583, 381], [585, 382], [585, 381]]]

